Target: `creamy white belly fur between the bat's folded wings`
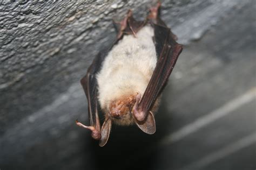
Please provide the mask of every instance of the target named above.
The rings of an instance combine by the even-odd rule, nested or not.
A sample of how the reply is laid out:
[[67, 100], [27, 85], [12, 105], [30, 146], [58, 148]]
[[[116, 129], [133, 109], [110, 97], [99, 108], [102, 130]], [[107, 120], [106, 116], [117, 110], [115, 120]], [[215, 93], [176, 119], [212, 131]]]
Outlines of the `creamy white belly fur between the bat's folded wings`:
[[109, 109], [111, 101], [123, 95], [144, 94], [157, 55], [151, 26], [144, 26], [136, 37], [124, 36], [106, 56], [97, 75], [98, 99], [102, 109]]

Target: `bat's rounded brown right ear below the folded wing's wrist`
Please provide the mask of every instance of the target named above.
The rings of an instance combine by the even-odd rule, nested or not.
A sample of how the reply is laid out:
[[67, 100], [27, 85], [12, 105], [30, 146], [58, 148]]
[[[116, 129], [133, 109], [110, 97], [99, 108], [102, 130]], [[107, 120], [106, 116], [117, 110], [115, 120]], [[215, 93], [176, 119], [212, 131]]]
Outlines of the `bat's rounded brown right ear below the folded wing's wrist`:
[[136, 118], [134, 118], [134, 121], [136, 122], [139, 129], [141, 129], [143, 132], [147, 134], [153, 134], [156, 132], [156, 122], [154, 121], [154, 115], [151, 111], [145, 118], [145, 121], [139, 122], [136, 120]]

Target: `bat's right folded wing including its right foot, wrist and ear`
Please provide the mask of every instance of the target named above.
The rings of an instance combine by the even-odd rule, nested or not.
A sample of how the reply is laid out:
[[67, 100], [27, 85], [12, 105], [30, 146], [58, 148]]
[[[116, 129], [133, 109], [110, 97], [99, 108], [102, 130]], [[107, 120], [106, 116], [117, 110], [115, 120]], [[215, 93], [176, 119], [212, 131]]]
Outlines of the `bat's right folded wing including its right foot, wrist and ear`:
[[153, 9], [154, 11], [151, 9], [151, 14], [148, 17], [154, 28], [154, 41], [158, 56], [157, 65], [142, 98], [137, 97], [137, 102], [132, 111], [139, 128], [149, 134], [156, 131], [154, 117], [150, 109], [164, 89], [178, 56], [183, 49], [176, 42], [176, 36], [166, 27], [157, 14], [153, 13], [158, 12], [158, 8], [159, 6], [157, 6], [157, 9]]

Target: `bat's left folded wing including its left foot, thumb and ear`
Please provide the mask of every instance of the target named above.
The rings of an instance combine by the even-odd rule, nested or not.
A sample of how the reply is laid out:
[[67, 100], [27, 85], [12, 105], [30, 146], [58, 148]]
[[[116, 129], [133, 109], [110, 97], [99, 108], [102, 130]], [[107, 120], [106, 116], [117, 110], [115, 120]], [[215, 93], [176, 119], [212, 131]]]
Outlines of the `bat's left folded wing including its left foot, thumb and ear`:
[[114, 41], [113, 45], [107, 50], [101, 51], [93, 60], [91, 66], [87, 70], [87, 74], [80, 80], [80, 83], [83, 86], [85, 95], [87, 97], [88, 102], [88, 113], [90, 119], [90, 126], [85, 126], [82, 123], [77, 121], [77, 125], [82, 126], [83, 128], [90, 129], [92, 131], [92, 138], [99, 141], [99, 146], [104, 146], [109, 139], [109, 134], [112, 126], [112, 120], [110, 118], [105, 119], [102, 128], [100, 129], [100, 121], [98, 117], [98, 100], [97, 100], [97, 93], [98, 93], [98, 84], [96, 79], [96, 74], [99, 72], [100, 68], [102, 67], [102, 63], [112, 49], [112, 47], [117, 44], [117, 42], [123, 38], [124, 34], [134, 34], [136, 33], [146, 24], [146, 22], [137, 22], [132, 17], [132, 12], [129, 10], [127, 12], [126, 17], [119, 23], [119, 32], [117, 35], [117, 39]]

